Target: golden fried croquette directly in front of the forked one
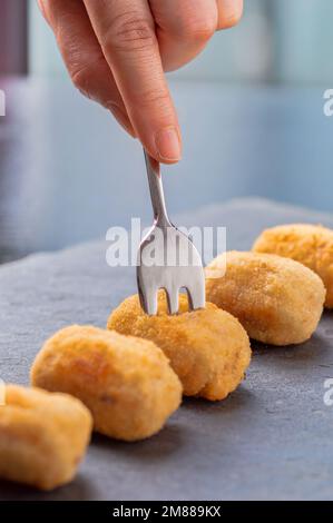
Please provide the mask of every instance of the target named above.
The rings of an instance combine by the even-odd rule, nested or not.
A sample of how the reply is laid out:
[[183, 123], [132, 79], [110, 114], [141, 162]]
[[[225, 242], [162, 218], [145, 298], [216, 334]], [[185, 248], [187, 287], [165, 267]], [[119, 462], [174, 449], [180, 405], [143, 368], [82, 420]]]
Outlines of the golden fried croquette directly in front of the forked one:
[[46, 342], [31, 383], [80, 398], [95, 431], [124, 441], [157, 433], [182, 399], [182, 385], [151, 342], [74, 325]]

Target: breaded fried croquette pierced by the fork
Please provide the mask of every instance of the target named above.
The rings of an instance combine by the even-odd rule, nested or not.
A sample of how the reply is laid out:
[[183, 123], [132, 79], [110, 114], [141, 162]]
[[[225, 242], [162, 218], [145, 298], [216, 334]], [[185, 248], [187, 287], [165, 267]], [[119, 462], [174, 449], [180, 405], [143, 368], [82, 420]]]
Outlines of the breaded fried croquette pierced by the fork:
[[164, 292], [158, 314], [146, 315], [138, 296], [130, 296], [109, 317], [108, 328], [150, 339], [170, 361], [186, 396], [223, 399], [244, 377], [251, 359], [248, 336], [231, 314], [206, 304], [188, 312], [179, 295], [179, 314], [168, 315]]

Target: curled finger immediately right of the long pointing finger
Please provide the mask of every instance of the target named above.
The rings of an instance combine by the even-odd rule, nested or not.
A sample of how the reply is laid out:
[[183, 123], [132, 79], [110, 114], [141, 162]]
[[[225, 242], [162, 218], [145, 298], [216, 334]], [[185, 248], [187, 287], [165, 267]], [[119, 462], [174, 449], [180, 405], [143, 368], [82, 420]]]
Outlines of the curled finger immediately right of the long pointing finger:
[[193, 60], [216, 31], [216, 0], [149, 0], [149, 3], [167, 71]]

